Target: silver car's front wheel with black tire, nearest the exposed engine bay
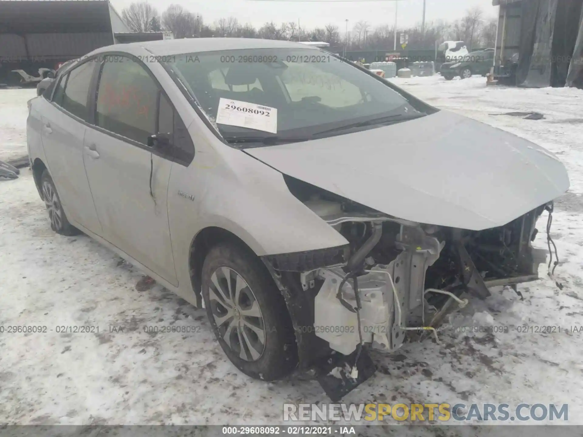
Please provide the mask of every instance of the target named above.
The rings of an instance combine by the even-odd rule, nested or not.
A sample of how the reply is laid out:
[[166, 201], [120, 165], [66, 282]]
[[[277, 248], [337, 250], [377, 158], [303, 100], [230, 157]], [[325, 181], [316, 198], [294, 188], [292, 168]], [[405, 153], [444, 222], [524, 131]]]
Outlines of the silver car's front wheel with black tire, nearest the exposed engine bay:
[[202, 297], [216, 339], [237, 369], [272, 381], [296, 368], [296, 337], [285, 300], [254, 253], [231, 243], [210, 249], [202, 266]]

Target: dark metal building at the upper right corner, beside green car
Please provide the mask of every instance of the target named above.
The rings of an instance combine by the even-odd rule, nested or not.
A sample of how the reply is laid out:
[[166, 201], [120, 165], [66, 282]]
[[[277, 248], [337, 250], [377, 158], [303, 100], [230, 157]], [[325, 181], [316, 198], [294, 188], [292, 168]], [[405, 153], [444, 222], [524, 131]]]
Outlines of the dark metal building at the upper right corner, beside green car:
[[583, 0], [493, 0], [494, 77], [525, 87], [583, 87]]

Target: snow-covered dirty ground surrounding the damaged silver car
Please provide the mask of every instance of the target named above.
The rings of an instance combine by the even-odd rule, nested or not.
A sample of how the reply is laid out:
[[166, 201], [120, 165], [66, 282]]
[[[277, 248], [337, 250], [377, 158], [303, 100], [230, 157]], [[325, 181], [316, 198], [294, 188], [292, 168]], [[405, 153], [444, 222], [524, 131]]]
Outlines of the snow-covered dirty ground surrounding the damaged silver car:
[[[532, 140], [564, 161], [571, 189], [556, 204], [552, 230], [561, 261], [556, 279], [564, 288], [541, 266], [542, 280], [519, 286], [524, 300], [510, 288], [485, 302], [472, 299], [452, 322], [508, 332], [444, 327], [441, 345], [427, 340], [375, 354], [377, 375], [343, 401], [568, 403], [569, 423], [583, 424], [583, 332], [571, 332], [583, 326], [583, 91], [490, 88], [483, 77], [393, 80], [430, 104]], [[34, 90], [0, 90], [0, 159], [26, 153], [26, 101], [33, 96]], [[491, 115], [511, 111], [545, 118]], [[247, 378], [227, 361], [202, 310], [160, 286], [137, 291], [142, 275], [92, 239], [55, 235], [28, 169], [0, 182], [0, 217], [0, 326], [47, 327], [0, 333], [0, 423], [275, 424], [285, 402], [329, 402], [314, 381]], [[539, 247], [546, 244], [545, 223], [546, 213]], [[144, 332], [154, 324], [192, 332]], [[99, 333], [57, 332], [79, 325]], [[518, 333], [524, 325], [561, 331]]]

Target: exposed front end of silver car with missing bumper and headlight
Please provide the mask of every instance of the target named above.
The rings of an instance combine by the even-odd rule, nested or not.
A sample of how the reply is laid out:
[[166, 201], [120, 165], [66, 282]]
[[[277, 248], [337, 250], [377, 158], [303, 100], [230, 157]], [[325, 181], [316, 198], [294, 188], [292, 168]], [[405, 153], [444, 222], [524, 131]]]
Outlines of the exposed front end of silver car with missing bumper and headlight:
[[[516, 291], [516, 284], [538, 279], [546, 262], [547, 251], [531, 242], [552, 203], [501, 227], [470, 231], [400, 220], [297, 179], [286, 182], [349, 241], [308, 257], [264, 257], [286, 297], [300, 368], [315, 368], [332, 400], [374, 373], [370, 348], [391, 352], [428, 336], [440, 344], [437, 328], [448, 313], [470, 297], [487, 298], [490, 287]], [[304, 262], [285, 270], [289, 258]]]

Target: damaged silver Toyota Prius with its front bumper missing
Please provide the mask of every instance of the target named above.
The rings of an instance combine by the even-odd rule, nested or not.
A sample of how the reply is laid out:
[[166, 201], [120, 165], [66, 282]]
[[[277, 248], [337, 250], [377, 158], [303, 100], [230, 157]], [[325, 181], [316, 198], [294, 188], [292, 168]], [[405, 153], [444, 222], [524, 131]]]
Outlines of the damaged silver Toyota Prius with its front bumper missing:
[[205, 308], [242, 372], [310, 373], [332, 399], [372, 348], [538, 279], [537, 220], [569, 187], [542, 147], [288, 41], [100, 48], [29, 107], [55, 232]]

